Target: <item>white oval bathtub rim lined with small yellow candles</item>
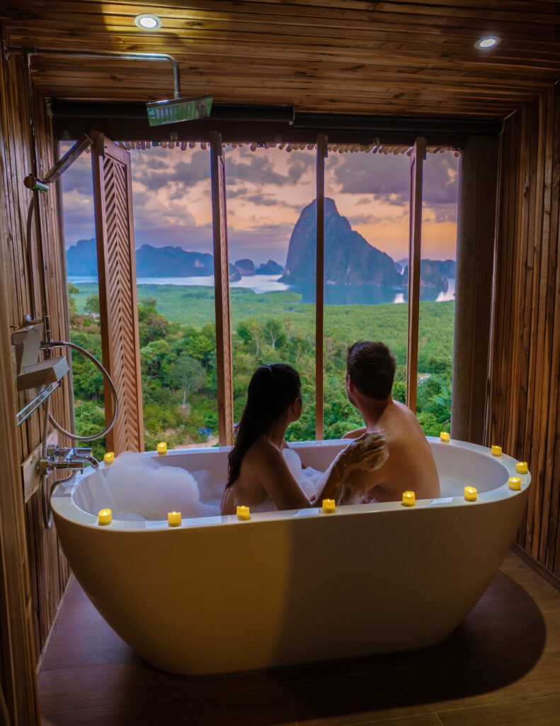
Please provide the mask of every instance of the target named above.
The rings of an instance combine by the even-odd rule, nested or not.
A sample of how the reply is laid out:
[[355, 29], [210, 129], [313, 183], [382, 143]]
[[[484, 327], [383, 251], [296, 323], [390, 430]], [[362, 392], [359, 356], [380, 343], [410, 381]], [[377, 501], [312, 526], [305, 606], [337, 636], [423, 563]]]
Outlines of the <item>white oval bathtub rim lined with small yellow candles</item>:
[[[104, 529], [106, 531], [130, 531], [130, 532], [147, 532], [147, 531], [160, 531], [162, 529], [168, 531], [181, 531], [183, 529], [215, 526], [217, 524], [229, 525], [229, 526], [255, 526], [255, 524], [262, 523], [271, 520], [283, 520], [306, 517], [332, 517], [332, 516], [351, 516], [354, 514], [364, 513], [382, 513], [387, 511], [400, 510], [402, 512], [412, 512], [413, 510], [425, 509], [427, 507], [473, 507], [473, 506], [484, 506], [492, 502], [501, 501], [503, 499], [510, 499], [511, 497], [517, 497], [524, 494], [531, 484], [531, 474], [527, 471], [527, 474], [516, 473], [516, 464], [518, 460], [508, 456], [508, 454], [501, 454], [499, 457], [495, 457], [491, 449], [486, 446], [479, 444], [472, 444], [469, 441], [457, 441], [450, 439], [448, 442], [440, 441], [439, 437], [427, 436], [427, 440], [430, 446], [450, 446], [458, 447], [461, 449], [471, 450], [479, 454], [490, 457], [494, 462], [501, 464], [507, 472], [505, 482], [501, 486], [490, 489], [487, 492], [477, 492], [477, 500], [475, 502], [467, 502], [463, 496], [458, 495], [454, 497], [438, 497], [436, 499], [417, 499], [416, 504], [413, 507], [405, 507], [401, 502], [375, 502], [372, 504], [357, 504], [357, 505], [344, 505], [337, 507], [335, 513], [324, 514], [321, 507], [308, 507], [305, 509], [296, 510], [281, 510], [273, 512], [255, 512], [251, 513], [250, 519], [247, 521], [239, 521], [236, 515], [213, 515], [209, 517], [193, 517], [193, 518], [182, 518], [180, 526], [169, 526], [167, 520], [147, 520], [147, 521], [128, 521], [120, 520], [118, 518], [112, 519], [112, 522], [107, 525], [100, 525], [97, 519], [97, 515], [90, 514], [85, 510], [78, 507], [73, 500], [73, 492], [78, 486], [81, 486], [87, 479], [94, 473], [95, 469], [86, 471], [80, 478], [75, 476], [72, 481], [65, 484], [57, 484], [54, 487], [51, 497], [51, 506], [56, 519], [63, 518], [73, 523], [78, 523], [81, 526], [86, 526], [92, 529]], [[293, 449], [308, 448], [309, 446], [337, 446], [339, 444], [349, 443], [348, 439], [325, 439], [323, 441], [295, 441], [290, 442], [289, 446]], [[203, 454], [208, 452], [223, 453], [229, 452], [231, 446], [213, 446], [209, 447], [198, 447], [193, 449], [170, 449], [166, 454], [158, 454], [157, 451], [140, 452], [142, 457], [153, 458], [163, 460], [168, 457], [185, 456], [189, 454]], [[100, 468], [105, 468], [104, 462], [100, 463]], [[521, 481], [521, 489], [514, 491], [509, 489], [508, 478], [510, 476], [517, 476]], [[473, 486], [476, 486], [476, 482], [473, 482]]]

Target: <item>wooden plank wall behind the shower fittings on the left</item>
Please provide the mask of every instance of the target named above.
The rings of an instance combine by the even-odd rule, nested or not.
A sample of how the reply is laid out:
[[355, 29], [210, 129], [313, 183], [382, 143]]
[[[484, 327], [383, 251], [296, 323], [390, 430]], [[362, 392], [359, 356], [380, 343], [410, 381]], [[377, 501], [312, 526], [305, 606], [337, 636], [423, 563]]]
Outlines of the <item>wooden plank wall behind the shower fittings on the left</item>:
[[[6, 229], [3, 230], [0, 245], [4, 264], [1, 266], [1, 282], [7, 297], [7, 306], [0, 310], [1, 323], [8, 327], [20, 327], [25, 314], [33, 314], [31, 285], [33, 284], [38, 314], [43, 312], [41, 286], [39, 284], [39, 255], [35, 251], [33, 275], [28, 271], [26, 254], [26, 221], [28, 207], [33, 195], [23, 185], [23, 179], [32, 171], [32, 155], [29, 134], [29, 103], [26, 91], [25, 66], [20, 57], [5, 60], [0, 57], [0, 136], [2, 168], [0, 189], [2, 205], [6, 212]], [[36, 136], [38, 146], [38, 171], [44, 174], [54, 163], [52, 132], [46, 107], [38, 94], [33, 94], [36, 113]], [[57, 191], [54, 187], [39, 200], [41, 227], [44, 233], [47, 296], [53, 338], [68, 340], [67, 292], [62, 274], [64, 253], [60, 244], [57, 224]], [[33, 228], [33, 240], [36, 233]], [[30, 282], [33, 277], [34, 282]], [[56, 353], [59, 354], [58, 352]], [[52, 396], [54, 417], [65, 428], [70, 426], [70, 378]], [[20, 393], [14, 404], [13, 415], [28, 400], [28, 393]], [[40, 413], [33, 414], [17, 429], [17, 466], [40, 442]], [[65, 442], [60, 440], [61, 444]], [[62, 555], [54, 529], [44, 529], [38, 493], [23, 503], [23, 484], [20, 479], [12, 483], [19, 492], [22, 521], [25, 522], [28, 567], [33, 619], [35, 655], [38, 658], [52, 627], [54, 616], [65, 590], [70, 570]]]

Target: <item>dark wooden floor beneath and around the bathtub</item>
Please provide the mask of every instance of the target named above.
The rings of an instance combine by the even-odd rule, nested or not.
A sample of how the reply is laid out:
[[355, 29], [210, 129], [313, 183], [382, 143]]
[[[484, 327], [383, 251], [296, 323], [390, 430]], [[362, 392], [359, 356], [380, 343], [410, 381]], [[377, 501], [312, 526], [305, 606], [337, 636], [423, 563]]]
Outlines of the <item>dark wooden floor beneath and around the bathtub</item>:
[[73, 581], [38, 686], [55, 726], [559, 726], [560, 592], [510, 553], [436, 648], [180, 677], [136, 656]]

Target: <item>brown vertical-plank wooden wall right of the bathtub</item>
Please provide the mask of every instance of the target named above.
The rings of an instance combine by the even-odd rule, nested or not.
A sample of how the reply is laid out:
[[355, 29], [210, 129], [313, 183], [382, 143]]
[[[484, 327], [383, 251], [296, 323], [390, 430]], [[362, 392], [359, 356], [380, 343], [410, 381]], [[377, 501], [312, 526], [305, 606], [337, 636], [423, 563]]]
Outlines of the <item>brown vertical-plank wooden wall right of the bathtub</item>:
[[519, 544], [560, 574], [560, 86], [508, 118], [501, 152], [487, 444], [527, 460]]

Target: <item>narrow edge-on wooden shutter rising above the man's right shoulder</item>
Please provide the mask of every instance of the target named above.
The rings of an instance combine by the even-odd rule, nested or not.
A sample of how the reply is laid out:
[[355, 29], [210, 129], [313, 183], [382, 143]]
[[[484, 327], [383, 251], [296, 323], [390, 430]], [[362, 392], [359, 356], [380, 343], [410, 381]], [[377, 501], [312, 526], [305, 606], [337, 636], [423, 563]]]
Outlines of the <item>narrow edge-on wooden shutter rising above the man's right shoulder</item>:
[[422, 229], [422, 168], [426, 139], [414, 142], [411, 154], [411, 192], [408, 234], [408, 346], [406, 348], [406, 405], [416, 413], [418, 381], [418, 321], [420, 312], [420, 241]]

